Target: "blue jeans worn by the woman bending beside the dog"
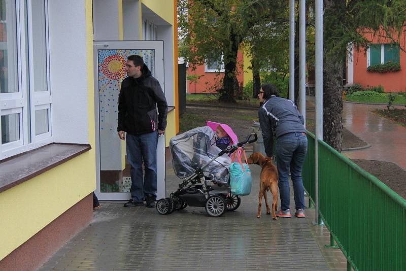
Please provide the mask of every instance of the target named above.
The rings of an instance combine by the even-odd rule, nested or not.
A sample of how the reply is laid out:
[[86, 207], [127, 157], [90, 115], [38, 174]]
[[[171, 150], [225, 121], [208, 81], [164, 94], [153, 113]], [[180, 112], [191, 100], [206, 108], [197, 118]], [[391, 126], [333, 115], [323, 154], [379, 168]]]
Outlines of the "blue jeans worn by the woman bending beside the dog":
[[281, 209], [290, 209], [289, 168], [293, 183], [296, 210], [304, 209], [304, 188], [301, 170], [308, 150], [306, 134], [291, 132], [280, 136], [276, 142], [276, 158], [279, 173], [279, 194]]

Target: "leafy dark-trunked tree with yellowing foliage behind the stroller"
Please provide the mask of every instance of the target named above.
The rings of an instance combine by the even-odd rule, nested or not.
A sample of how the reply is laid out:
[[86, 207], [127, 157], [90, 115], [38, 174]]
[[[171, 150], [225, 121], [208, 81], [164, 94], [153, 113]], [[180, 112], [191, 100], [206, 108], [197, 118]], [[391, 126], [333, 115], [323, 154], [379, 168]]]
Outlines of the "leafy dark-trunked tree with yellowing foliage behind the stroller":
[[185, 35], [189, 64], [207, 59], [224, 62], [224, 78], [219, 89], [221, 101], [235, 102], [237, 53], [242, 42], [258, 24], [273, 21], [285, 9], [284, 1], [272, 0], [178, 0], [180, 32]]

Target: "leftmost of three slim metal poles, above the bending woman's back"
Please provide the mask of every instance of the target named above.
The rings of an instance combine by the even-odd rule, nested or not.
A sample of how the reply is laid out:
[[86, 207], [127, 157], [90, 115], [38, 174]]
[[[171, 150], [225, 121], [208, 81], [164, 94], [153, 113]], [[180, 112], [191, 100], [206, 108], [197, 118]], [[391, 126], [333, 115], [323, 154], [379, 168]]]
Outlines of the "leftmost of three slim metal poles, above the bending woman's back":
[[295, 100], [295, 0], [289, 0], [289, 99]]

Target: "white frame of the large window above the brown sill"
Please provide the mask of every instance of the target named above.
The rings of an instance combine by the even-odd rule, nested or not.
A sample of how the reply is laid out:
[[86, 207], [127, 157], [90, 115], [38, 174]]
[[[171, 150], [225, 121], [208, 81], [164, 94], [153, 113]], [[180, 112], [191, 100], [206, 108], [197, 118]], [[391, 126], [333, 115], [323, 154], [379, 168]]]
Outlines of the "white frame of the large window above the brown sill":
[[[52, 95], [50, 91], [49, 64], [49, 30], [48, 30], [48, 0], [45, 3], [45, 36], [46, 36], [46, 84], [47, 91], [33, 89], [32, 61], [32, 0], [15, 0], [16, 12], [16, 45], [17, 45], [17, 82], [18, 92], [0, 94], [0, 115], [20, 113], [20, 140], [1, 144], [0, 160], [52, 143]], [[26, 5], [25, 5], [26, 3]], [[14, 8], [14, 7], [13, 7]], [[27, 37], [27, 38], [26, 38]], [[28, 69], [26, 69], [28, 65]], [[29, 105], [27, 104], [29, 95]], [[44, 134], [35, 135], [35, 110], [48, 108], [48, 129]], [[28, 114], [28, 109], [29, 113]], [[29, 116], [29, 117], [28, 117]], [[0, 126], [1, 129], [1, 126]]]

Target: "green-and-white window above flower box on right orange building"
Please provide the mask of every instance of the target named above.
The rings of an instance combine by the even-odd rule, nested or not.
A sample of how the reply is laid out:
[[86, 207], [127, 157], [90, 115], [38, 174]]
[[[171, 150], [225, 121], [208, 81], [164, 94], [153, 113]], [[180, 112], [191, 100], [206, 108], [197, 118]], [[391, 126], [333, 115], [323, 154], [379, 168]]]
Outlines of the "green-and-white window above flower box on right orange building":
[[367, 66], [390, 61], [399, 63], [399, 52], [398, 44], [371, 44], [367, 50]]

